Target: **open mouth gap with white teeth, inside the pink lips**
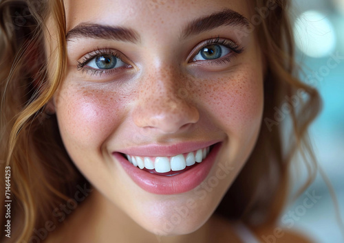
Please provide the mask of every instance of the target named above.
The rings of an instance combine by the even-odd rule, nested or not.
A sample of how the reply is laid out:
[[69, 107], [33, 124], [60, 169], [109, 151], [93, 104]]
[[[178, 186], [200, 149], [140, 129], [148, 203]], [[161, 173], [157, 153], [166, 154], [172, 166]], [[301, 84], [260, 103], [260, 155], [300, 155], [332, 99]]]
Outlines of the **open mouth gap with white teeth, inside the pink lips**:
[[202, 163], [212, 148], [213, 146], [208, 146], [184, 154], [177, 154], [173, 157], [140, 157], [121, 154], [129, 163], [141, 170], [159, 176], [175, 176]]

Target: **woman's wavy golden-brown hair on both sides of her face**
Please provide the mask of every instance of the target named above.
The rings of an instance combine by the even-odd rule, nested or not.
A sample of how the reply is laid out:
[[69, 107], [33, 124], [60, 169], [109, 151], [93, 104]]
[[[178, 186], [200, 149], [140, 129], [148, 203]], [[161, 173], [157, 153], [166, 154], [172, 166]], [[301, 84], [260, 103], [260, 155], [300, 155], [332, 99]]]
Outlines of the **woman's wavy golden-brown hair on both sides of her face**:
[[[217, 209], [223, 216], [252, 226], [277, 220], [288, 192], [288, 167], [297, 148], [305, 148], [303, 151], [308, 151], [312, 159], [306, 132], [319, 112], [320, 99], [316, 90], [296, 76], [288, 2], [255, 1], [258, 9], [270, 3], [274, 6], [254, 26], [266, 62], [264, 119], [273, 119], [274, 108], [286, 102], [286, 97], [300, 90], [308, 97], [299, 106], [290, 106], [289, 145], [283, 143], [283, 122], [272, 128], [263, 121], [255, 150]], [[26, 23], [17, 25], [13, 19], [18, 16], [16, 11], [28, 10], [32, 15], [22, 14]], [[72, 197], [76, 185], [87, 181], [65, 151], [56, 117], [45, 114], [45, 104], [63, 81], [66, 68], [63, 1], [4, 0], [0, 1], [0, 13], [0, 45], [4, 47], [0, 49], [0, 173], [5, 174], [5, 167], [11, 167], [12, 235], [17, 235], [14, 240], [22, 241], [30, 240], [33, 230], [44, 227], [47, 220], [57, 225], [53, 209]], [[48, 17], [58, 30], [58, 49], [53, 54], [58, 66], [52, 73], [47, 73], [48, 58], [42, 51]], [[0, 183], [3, 197], [4, 181]], [[4, 218], [1, 220], [4, 225]]]

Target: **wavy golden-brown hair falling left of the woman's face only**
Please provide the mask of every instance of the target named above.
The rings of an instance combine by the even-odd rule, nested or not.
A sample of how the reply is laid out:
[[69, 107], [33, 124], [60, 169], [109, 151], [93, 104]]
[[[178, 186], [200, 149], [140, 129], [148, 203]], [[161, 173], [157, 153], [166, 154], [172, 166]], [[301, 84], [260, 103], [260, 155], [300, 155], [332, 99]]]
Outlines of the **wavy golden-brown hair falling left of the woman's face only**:
[[[44, 227], [48, 220], [57, 225], [56, 218], [52, 217], [53, 209], [76, 191], [78, 181], [84, 180], [63, 147], [56, 117], [48, 119], [44, 113], [45, 104], [65, 73], [63, 8], [61, 1], [49, 4], [45, 1], [0, 2], [0, 43], [4, 47], [0, 53], [0, 154], [1, 159], [5, 159], [5, 163], [1, 163], [1, 174], [10, 166], [11, 239], [14, 242], [30, 240], [33, 229]], [[27, 15], [29, 11], [32, 16]], [[48, 13], [52, 14], [60, 37], [56, 40], [57, 67], [54, 73], [49, 73], [51, 78], [47, 78], [47, 58], [42, 51]], [[1, 197], [5, 195], [3, 182], [1, 180]]]

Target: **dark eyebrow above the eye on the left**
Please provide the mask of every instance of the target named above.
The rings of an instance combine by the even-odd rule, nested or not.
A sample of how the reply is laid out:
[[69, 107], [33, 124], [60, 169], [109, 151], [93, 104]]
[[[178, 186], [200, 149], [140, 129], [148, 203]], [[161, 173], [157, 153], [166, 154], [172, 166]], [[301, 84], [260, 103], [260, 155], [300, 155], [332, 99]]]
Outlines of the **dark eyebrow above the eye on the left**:
[[129, 41], [131, 43], [137, 43], [140, 40], [139, 34], [134, 30], [96, 23], [80, 23], [72, 30], [69, 30], [65, 38], [67, 42], [72, 41], [74, 38], [109, 39]]

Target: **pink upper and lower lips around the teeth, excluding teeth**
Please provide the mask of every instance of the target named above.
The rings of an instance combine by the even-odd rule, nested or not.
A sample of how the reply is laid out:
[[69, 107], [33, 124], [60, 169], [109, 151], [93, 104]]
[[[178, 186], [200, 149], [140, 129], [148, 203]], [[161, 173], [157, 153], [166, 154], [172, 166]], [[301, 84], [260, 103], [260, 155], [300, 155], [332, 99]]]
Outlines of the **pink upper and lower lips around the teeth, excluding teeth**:
[[[182, 154], [185, 152], [197, 150], [211, 146], [214, 142], [200, 143], [179, 143], [174, 146], [144, 146], [140, 148], [131, 148], [114, 152], [114, 157], [120, 162], [131, 179], [142, 189], [153, 194], [180, 194], [188, 192], [191, 189], [200, 185], [202, 181], [208, 176], [211, 167], [215, 163], [219, 148], [222, 143], [216, 143], [213, 149], [208, 154], [202, 163], [191, 167], [189, 170], [181, 171], [180, 174], [174, 176], [160, 176], [151, 174], [145, 170], [133, 166], [121, 153], [137, 155], [137, 156], [173, 156], [175, 154]], [[160, 148], [160, 149], [159, 149]], [[163, 149], [162, 149], [163, 148]], [[163, 151], [163, 154], [162, 154]]]

